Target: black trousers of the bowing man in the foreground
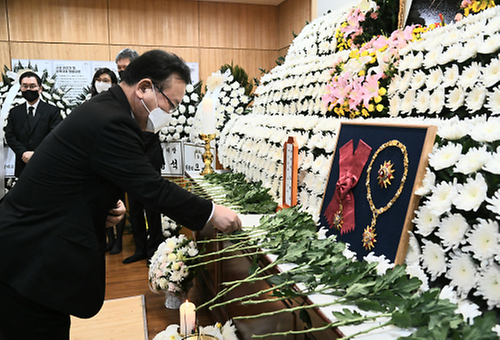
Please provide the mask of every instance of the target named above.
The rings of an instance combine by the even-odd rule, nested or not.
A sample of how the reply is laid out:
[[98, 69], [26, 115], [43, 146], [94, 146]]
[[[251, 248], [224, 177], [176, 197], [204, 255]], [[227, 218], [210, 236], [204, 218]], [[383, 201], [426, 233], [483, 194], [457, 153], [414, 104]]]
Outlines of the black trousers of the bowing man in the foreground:
[[68, 314], [28, 300], [0, 282], [0, 340], [69, 340], [70, 323]]

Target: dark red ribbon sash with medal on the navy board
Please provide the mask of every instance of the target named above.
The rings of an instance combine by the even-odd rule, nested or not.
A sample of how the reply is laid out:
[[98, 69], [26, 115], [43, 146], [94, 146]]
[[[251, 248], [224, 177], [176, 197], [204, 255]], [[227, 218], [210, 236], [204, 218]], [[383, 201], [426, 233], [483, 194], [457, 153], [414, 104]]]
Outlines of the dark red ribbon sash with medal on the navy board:
[[352, 139], [339, 149], [339, 179], [324, 215], [330, 228], [334, 226], [336, 219], [337, 222], [339, 218], [342, 220], [340, 234], [354, 230], [355, 212], [352, 189], [358, 183], [371, 151], [372, 148], [361, 139], [354, 153]]

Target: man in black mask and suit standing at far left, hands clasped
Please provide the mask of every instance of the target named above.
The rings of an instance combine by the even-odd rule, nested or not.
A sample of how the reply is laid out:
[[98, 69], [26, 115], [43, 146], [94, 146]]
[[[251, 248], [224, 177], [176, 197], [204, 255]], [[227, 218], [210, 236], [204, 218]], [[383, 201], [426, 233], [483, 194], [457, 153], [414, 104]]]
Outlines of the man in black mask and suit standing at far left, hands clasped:
[[16, 154], [16, 177], [21, 175], [45, 136], [62, 121], [57, 107], [40, 100], [42, 80], [35, 72], [24, 72], [19, 84], [26, 104], [10, 110], [5, 127], [7, 144]]

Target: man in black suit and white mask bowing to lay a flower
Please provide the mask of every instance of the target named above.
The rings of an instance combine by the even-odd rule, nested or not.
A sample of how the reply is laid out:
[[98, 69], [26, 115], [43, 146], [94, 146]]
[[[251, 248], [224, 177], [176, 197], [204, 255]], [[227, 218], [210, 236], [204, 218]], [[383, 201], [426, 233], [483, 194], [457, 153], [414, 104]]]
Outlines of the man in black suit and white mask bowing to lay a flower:
[[106, 218], [123, 191], [193, 230], [241, 228], [232, 210], [163, 179], [144, 152], [142, 131], [165, 124], [189, 81], [180, 58], [147, 52], [38, 147], [0, 202], [0, 339], [68, 340], [69, 315], [99, 311]]

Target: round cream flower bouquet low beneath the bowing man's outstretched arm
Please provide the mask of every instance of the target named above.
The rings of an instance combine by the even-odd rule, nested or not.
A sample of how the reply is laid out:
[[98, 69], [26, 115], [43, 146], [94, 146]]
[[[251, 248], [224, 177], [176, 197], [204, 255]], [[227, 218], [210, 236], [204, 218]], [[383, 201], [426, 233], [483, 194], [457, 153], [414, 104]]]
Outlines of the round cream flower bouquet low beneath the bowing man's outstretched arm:
[[183, 234], [172, 236], [161, 243], [149, 266], [151, 291], [166, 291], [176, 295], [187, 292], [195, 277], [195, 271], [188, 269], [188, 265], [197, 254], [196, 242]]

